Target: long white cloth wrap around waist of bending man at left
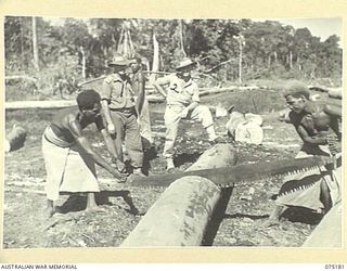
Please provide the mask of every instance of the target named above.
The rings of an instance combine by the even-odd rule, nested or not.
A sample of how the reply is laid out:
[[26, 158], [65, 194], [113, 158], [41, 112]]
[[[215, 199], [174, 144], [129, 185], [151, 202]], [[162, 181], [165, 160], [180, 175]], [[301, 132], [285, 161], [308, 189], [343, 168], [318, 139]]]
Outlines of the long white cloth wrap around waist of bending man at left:
[[[77, 144], [68, 145], [54, 137], [50, 127], [42, 137], [47, 198], [56, 201], [60, 192], [99, 192], [94, 162], [91, 157]], [[66, 146], [57, 146], [51, 142], [65, 143]]]

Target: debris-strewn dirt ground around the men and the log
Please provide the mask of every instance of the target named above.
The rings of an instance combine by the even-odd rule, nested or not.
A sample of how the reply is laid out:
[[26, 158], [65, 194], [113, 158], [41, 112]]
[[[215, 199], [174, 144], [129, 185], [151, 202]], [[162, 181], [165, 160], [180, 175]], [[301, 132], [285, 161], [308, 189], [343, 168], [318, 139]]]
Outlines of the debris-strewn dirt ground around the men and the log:
[[[221, 93], [204, 96], [202, 103], [220, 103], [223, 106], [235, 104], [236, 111], [259, 114], [269, 114], [285, 106], [279, 94], [271, 91]], [[41, 155], [41, 134], [54, 113], [55, 109], [21, 109], [5, 114], [7, 131], [17, 124], [27, 129], [28, 137], [22, 149], [5, 154], [3, 248], [117, 247], [164, 190], [118, 184], [107, 171], [98, 167], [101, 193], [97, 199], [103, 212], [83, 211], [83, 195], [61, 195], [57, 212], [44, 220], [46, 171]], [[163, 114], [164, 104], [151, 104], [152, 126], [159, 149], [156, 156], [150, 157], [152, 175], [165, 171], [165, 160], [162, 157], [164, 139], [157, 137], [165, 131]], [[216, 119], [217, 132], [222, 137], [227, 120], [228, 117]], [[295, 156], [301, 142], [291, 125], [269, 119], [262, 128], [265, 139], [261, 145], [236, 145], [237, 164]], [[100, 136], [94, 132], [94, 128], [88, 128], [88, 138], [93, 142], [93, 147], [107, 157]], [[208, 147], [210, 144], [202, 126], [182, 121], [176, 143], [176, 170], [183, 171]], [[280, 179], [259, 180], [234, 188], [222, 221], [218, 229], [214, 229], [218, 231], [206, 245], [300, 246], [319, 223], [320, 215], [306, 209], [292, 209], [284, 215], [279, 227], [261, 227], [273, 207], [270, 197], [279, 191], [281, 183]], [[253, 198], [242, 199], [241, 196], [247, 195], [250, 188], [255, 191]]]

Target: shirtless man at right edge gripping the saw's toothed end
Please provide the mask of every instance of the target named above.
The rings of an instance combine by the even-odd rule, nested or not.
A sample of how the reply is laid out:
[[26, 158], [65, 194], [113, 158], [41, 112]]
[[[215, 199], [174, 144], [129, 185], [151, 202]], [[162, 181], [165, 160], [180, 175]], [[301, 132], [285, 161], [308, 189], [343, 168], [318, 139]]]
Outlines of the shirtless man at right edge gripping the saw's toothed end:
[[[310, 101], [309, 95], [308, 88], [299, 81], [290, 81], [284, 88], [284, 98], [291, 109], [290, 122], [304, 141], [296, 158], [312, 155], [338, 156], [336, 146], [342, 139], [338, 125], [342, 118], [342, 109], [337, 106]], [[316, 185], [279, 197], [265, 227], [278, 224], [283, 208], [287, 206], [301, 206], [310, 209], [323, 208], [326, 214], [339, 201], [339, 184], [338, 180], [333, 181], [333, 179], [336, 179], [334, 176], [324, 173], [324, 170], [317, 172], [317, 175], [321, 175], [322, 178], [319, 182], [316, 182]], [[286, 181], [290, 180], [284, 180], [284, 182]], [[318, 198], [310, 198], [314, 189], [319, 196]], [[332, 191], [337, 192], [332, 193]], [[305, 195], [305, 193], [307, 194]]]

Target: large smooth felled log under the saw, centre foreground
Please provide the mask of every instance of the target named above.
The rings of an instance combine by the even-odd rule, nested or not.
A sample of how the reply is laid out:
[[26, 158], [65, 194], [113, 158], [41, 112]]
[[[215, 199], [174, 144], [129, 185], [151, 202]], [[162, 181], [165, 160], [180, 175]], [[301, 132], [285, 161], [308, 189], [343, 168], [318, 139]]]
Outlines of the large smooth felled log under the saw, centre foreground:
[[[235, 163], [235, 150], [220, 144], [206, 151], [188, 170]], [[220, 189], [208, 179], [183, 177], [170, 184], [121, 246], [200, 246], [220, 197]]]

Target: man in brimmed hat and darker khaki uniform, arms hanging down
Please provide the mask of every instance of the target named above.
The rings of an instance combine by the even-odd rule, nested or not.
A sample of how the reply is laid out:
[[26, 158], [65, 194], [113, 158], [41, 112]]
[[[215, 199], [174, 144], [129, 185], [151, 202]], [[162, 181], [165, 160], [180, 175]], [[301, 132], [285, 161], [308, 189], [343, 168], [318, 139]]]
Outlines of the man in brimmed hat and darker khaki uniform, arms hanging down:
[[125, 141], [133, 173], [143, 176], [143, 151], [137, 122], [134, 93], [126, 74], [129, 64], [130, 62], [120, 55], [116, 55], [108, 64], [114, 73], [103, 81], [101, 90], [102, 108], [108, 132], [115, 134], [115, 145], [119, 158], [124, 160], [121, 145]]

